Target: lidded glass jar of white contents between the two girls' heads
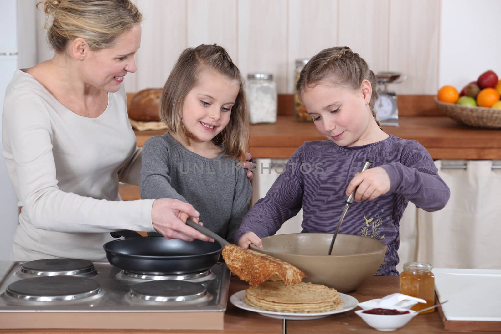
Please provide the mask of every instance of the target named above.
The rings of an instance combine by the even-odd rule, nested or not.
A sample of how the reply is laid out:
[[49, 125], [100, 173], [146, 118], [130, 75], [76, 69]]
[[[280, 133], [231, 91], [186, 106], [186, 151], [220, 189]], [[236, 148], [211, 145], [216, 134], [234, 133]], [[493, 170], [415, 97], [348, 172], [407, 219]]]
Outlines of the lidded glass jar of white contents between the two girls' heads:
[[270, 73], [247, 75], [247, 106], [250, 123], [277, 122], [277, 84]]

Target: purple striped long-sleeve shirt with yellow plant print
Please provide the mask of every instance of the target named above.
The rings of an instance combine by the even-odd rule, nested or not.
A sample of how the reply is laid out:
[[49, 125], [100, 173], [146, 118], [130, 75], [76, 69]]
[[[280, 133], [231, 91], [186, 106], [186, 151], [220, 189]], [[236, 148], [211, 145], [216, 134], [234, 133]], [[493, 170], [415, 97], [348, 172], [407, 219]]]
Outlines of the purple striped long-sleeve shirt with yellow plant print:
[[[303, 208], [302, 232], [334, 233], [345, 206], [345, 191], [365, 159], [390, 177], [390, 191], [373, 201], [353, 202], [339, 233], [366, 236], [388, 245], [377, 275], [398, 276], [399, 222], [408, 201], [426, 211], [442, 209], [449, 188], [428, 151], [415, 140], [394, 136], [377, 143], [339, 147], [330, 140], [305, 142], [266, 196], [246, 214], [234, 240], [252, 231], [275, 234]], [[259, 166], [258, 166], [259, 167]]]

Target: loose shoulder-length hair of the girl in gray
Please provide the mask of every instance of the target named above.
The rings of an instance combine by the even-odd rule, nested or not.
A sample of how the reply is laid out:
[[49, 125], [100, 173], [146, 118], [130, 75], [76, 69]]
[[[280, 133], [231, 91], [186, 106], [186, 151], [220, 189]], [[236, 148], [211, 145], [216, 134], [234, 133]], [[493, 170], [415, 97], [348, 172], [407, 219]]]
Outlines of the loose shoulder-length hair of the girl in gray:
[[189, 138], [192, 138], [192, 135], [182, 122], [184, 99], [197, 85], [198, 74], [203, 68], [234, 79], [240, 85], [235, 104], [231, 108], [228, 125], [212, 139], [212, 142], [218, 146], [224, 145], [225, 156], [242, 162], [245, 160], [249, 137], [245, 89], [240, 71], [224, 48], [216, 44], [202, 44], [196, 48], [187, 48], [181, 53], [163, 87], [159, 108], [160, 120], [167, 125], [168, 131], [189, 145]]

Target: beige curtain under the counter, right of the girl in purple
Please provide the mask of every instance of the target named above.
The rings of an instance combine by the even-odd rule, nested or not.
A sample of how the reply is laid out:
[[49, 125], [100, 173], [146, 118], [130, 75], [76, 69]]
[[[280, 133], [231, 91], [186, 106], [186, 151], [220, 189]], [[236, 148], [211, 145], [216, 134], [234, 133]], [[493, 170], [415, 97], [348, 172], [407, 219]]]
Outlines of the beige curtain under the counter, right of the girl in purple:
[[[435, 268], [501, 268], [501, 161], [436, 161], [445, 208], [418, 210], [417, 259]], [[445, 165], [465, 165], [465, 169]]]

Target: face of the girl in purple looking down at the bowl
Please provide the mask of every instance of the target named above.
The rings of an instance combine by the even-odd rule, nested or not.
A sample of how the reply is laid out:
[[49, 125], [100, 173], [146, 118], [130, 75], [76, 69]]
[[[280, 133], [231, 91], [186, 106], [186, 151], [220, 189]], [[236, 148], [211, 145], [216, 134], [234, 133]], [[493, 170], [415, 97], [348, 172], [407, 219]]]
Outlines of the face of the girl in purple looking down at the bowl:
[[301, 94], [308, 114], [317, 130], [336, 145], [365, 145], [374, 122], [367, 101], [371, 98], [370, 83], [364, 80], [360, 90], [333, 86], [322, 81]]

